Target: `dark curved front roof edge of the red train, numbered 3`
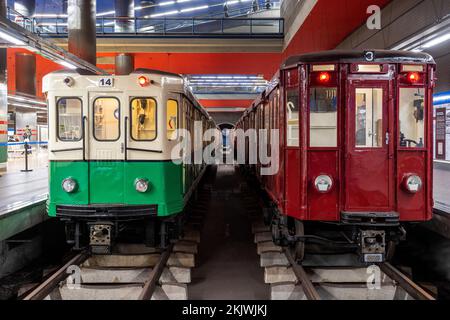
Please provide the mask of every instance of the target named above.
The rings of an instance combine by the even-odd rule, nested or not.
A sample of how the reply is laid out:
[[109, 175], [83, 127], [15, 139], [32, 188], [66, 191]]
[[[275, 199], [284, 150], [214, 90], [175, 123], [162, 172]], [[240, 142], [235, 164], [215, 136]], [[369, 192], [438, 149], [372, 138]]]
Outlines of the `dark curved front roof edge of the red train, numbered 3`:
[[425, 52], [400, 50], [331, 50], [291, 56], [281, 65], [281, 69], [286, 69], [301, 63], [314, 62], [435, 63], [433, 57]]

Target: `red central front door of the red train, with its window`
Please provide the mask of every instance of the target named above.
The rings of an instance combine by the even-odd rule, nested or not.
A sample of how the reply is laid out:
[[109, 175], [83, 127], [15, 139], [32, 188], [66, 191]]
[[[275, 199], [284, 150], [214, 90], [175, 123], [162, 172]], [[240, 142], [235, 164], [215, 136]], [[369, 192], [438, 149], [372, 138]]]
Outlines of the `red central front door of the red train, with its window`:
[[349, 81], [347, 100], [346, 212], [393, 211], [393, 117], [388, 81]]

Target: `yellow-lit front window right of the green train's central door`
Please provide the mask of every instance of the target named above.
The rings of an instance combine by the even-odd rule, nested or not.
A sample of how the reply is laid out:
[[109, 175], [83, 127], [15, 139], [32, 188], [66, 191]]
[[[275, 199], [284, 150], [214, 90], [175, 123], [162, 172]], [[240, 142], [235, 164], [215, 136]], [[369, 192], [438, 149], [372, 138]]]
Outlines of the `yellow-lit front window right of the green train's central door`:
[[134, 98], [131, 100], [131, 138], [137, 141], [156, 139], [156, 100]]

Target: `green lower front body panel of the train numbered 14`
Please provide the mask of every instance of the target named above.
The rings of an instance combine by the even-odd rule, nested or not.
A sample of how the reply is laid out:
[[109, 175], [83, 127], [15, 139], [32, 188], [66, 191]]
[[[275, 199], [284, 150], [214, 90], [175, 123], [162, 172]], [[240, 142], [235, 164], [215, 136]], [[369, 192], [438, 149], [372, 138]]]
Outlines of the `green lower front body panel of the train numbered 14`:
[[[51, 161], [49, 170], [50, 216], [58, 205], [155, 205], [158, 217], [183, 211], [183, 166], [172, 161]], [[66, 178], [77, 182], [72, 193], [62, 189]], [[136, 191], [136, 179], [149, 181], [147, 192]]]

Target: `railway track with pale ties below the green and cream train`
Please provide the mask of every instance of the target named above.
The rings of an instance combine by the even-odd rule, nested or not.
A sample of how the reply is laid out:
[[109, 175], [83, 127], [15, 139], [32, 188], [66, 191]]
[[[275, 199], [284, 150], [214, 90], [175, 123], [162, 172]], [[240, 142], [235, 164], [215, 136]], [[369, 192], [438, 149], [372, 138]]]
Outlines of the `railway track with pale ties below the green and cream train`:
[[23, 300], [185, 300], [196, 240], [191, 235], [164, 251], [121, 246], [108, 256], [81, 252]]

